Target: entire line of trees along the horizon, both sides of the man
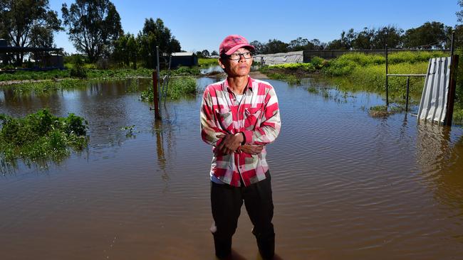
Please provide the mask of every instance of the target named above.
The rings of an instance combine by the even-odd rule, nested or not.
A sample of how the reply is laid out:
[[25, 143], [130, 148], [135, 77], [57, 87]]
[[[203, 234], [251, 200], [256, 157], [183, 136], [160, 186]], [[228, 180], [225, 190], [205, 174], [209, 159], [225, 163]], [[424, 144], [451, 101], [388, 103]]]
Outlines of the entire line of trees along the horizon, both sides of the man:
[[[463, 8], [463, 0], [458, 0]], [[124, 67], [155, 67], [155, 46], [160, 54], [181, 51], [180, 42], [172, 35], [164, 22], [157, 18], [146, 18], [142, 30], [133, 35], [124, 33], [115, 5], [109, 0], [75, 0], [68, 6], [63, 4], [61, 21], [56, 11], [49, 7], [48, 0], [0, 0], [0, 38], [9, 45], [19, 47], [56, 47], [53, 33], [68, 33], [78, 53], [90, 63], [113, 63]], [[463, 11], [456, 12], [463, 23]], [[251, 42], [256, 53], [284, 53], [296, 50], [359, 50], [390, 48], [449, 48], [452, 31], [456, 33], [457, 47], [463, 47], [463, 25], [454, 28], [436, 21], [426, 22], [407, 31], [397, 26], [351, 28], [342, 31], [340, 38], [323, 43], [314, 38], [298, 37], [288, 43], [271, 39], [266, 43]], [[9, 59], [21, 65], [25, 53], [16, 53]], [[216, 50], [198, 51], [197, 56], [218, 55]]]

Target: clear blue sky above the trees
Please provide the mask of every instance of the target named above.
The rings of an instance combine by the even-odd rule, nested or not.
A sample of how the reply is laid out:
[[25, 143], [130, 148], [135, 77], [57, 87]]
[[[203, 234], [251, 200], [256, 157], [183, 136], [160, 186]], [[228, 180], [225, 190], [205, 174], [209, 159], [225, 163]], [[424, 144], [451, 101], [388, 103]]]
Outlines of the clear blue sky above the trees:
[[[62, 19], [61, 6], [75, 1], [50, 0], [50, 8]], [[182, 50], [219, 50], [230, 34], [244, 36], [250, 42], [271, 39], [288, 43], [298, 37], [317, 38], [328, 43], [340, 38], [342, 31], [353, 28], [397, 26], [405, 31], [438, 21], [455, 26], [457, 0], [326, 0], [326, 1], [176, 1], [113, 0], [125, 33], [135, 36], [145, 18], [161, 18]], [[76, 53], [65, 31], [55, 33], [58, 48]]]

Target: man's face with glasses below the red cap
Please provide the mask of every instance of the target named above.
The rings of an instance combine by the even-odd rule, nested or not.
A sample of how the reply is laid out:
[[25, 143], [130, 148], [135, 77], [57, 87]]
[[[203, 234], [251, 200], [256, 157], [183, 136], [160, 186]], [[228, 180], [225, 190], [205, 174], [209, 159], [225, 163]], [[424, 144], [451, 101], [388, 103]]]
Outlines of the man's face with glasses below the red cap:
[[[239, 48], [232, 55], [230, 55], [229, 58], [220, 58], [219, 64], [222, 68], [225, 69], [225, 72], [227, 72], [229, 77], [247, 76], [251, 70], [252, 65], [252, 57], [247, 58], [249, 56], [246, 56], [249, 55], [249, 53], [251, 53], [250, 50], [246, 48]], [[238, 60], [230, 60], [230, 58], [238, 58]]]

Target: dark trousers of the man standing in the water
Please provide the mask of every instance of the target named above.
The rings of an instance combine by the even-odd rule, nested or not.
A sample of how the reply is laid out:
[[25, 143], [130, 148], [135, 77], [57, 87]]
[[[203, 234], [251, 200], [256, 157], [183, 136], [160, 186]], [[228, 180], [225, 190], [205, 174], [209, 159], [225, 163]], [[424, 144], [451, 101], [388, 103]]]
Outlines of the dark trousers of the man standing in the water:
[[259, 252], [264, 259], [272, 259], [275, 251], [275, 232], [271, 219], [274, 217], [274, 202], [271, 198], [271, 178], [269, 171], [266, 179], [245, 187], [211, 182], [212, 234], [214, 235], [215, 254], [224, 258], [231, 253], [231, 237], [238, 224], [241, 205], [246, 207], [254, 228]]

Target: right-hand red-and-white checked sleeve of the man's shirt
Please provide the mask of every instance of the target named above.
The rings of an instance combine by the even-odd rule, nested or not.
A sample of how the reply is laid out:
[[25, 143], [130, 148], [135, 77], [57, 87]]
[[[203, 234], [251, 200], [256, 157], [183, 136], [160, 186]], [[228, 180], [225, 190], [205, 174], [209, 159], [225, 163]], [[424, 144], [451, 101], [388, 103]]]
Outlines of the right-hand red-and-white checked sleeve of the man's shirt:
[[281, 120], [278, 99], [273, 87], [265, 97], [263, 117], [260, 126], [254, 130], [244, 130], [246, 143], [265, 145], [275, 141], [280, 133]]

